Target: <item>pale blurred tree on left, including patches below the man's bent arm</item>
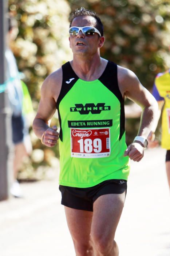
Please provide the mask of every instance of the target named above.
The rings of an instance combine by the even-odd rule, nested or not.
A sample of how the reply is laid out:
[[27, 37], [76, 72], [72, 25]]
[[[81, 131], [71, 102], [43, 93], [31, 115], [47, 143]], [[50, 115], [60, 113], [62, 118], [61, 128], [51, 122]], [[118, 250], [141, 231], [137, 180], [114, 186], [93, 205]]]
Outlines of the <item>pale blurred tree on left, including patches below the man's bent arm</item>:
[[[43, 80], [72, 59], [68, 41], [70, 11], [66, 0], [9, 0], [9, 12], [16, 18], [19, 29], [11, 48], [19, 70], [24, 73], [24, 82], [35, 110]], [[51, 123], [58, 124], [57, 116]], [[53, 170], [53, 167], [56, 170], [58, 166], [58, 145], [54, 148], [44, 147], [32, 129], [30, 135], [33, 154], [31, 159], [25, 159], [23, 168], [26, 172], [21, 172], [20, 178], [42, 177], [47, 166], [48, 171]]]

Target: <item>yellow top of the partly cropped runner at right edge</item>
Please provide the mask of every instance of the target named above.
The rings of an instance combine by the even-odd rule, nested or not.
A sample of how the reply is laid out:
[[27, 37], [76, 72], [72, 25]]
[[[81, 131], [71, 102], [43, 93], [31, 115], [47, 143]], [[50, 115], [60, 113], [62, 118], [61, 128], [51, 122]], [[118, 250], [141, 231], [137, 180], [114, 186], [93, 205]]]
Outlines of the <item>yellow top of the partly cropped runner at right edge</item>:
[[162, 112], [162, 139], [161, 146], [170, 150], [170, 72], [166, 71], [155, 78], [155, 86], [159, 95], [164, 98], [165, 104]]

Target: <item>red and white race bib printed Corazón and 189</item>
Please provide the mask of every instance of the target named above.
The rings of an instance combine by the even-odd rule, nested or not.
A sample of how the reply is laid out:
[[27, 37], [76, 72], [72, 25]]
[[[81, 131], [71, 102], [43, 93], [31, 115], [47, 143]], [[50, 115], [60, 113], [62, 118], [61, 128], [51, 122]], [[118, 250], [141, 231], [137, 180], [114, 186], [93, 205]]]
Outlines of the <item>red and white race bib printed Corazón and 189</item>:
[[71, 128], [71, 157], [99, 158], [110, 156], [110, 128]]

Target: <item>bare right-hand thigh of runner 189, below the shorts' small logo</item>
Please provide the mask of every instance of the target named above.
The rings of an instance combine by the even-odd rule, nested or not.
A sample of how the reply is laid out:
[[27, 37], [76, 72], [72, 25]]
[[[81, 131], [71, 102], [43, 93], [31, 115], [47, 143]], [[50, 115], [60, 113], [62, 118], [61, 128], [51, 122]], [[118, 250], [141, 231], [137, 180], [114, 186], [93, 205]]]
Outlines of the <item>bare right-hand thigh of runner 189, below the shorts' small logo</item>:
[[107, 194], [93, 204], [91, 235], [103, 240], [114, 240], [115, 231], [122, 214], [126, 192]]

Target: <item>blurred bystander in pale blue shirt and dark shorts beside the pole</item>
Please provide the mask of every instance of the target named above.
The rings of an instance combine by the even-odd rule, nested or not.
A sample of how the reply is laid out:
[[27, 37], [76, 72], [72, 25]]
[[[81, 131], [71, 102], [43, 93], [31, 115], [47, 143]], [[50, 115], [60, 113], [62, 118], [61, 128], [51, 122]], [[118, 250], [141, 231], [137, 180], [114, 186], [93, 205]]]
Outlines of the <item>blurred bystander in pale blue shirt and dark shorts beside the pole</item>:
[[8, 16], [8, 46], [5, 51], [7, 60], [7, 90], [9, 102], [12, 110], [12, 141], [14, 144], [13, 156], [13, 184], [10, 193], [15, 197], [21, 197], [22, 192], [17, 181], [17, 174], [20, 170], [23, 158], [32, 152], [32, 144], [29, 137], [29, 124], [27, 114], [32, 112], [31, 98], [28, 93], [27, 86], [20, 80], [15, 57], [9, 48], [10, 43], [15, 40], [18, 28], [16, 20]]

